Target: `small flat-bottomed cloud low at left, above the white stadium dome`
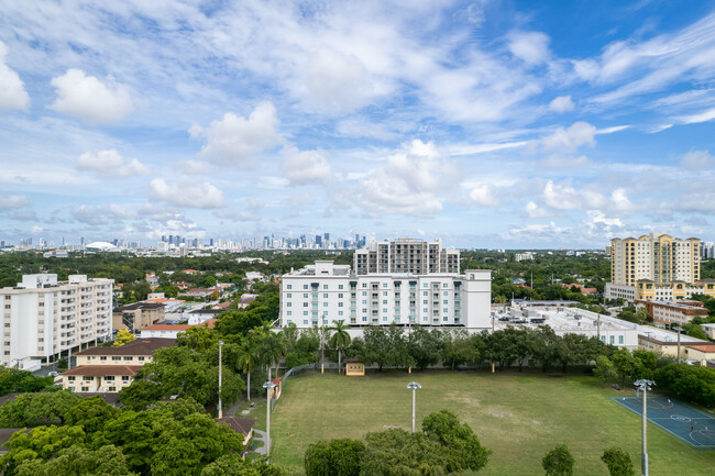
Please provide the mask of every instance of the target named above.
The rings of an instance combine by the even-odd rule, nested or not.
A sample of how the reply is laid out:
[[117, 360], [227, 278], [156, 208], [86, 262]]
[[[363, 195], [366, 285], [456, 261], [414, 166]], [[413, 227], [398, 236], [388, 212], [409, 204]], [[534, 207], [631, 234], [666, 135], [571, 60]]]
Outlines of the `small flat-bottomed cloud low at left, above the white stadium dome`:
[[167, 184], [163, 178], [155, 178], [148, 186], [151, 198], [176, 207], [199, 209], [223, 207], [223, 192], [208, 181], [198, 184], [185, 178], [175, 184]]

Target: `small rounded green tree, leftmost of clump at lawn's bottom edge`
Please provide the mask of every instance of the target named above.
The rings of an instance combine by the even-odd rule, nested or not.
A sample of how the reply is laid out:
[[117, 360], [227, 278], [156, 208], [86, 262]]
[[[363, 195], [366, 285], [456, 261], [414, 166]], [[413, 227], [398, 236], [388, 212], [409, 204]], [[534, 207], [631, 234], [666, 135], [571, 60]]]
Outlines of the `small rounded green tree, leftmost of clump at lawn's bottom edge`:
[[365, 445], [358, 440], [319, 441], [305, 454], [306, 476], [359, 476]]

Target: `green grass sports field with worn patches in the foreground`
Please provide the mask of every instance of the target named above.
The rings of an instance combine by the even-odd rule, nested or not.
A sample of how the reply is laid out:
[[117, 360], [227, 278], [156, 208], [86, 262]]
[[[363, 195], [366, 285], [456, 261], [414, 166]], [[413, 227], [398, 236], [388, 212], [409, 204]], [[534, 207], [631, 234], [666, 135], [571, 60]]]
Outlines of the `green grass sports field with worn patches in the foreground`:
[[[616, 391], [587, 376], [518, 373], [292, 377], [272, 412], [273, 461], [302, 474], [302, 454], [315, 441], [362, 439], [394, 427], [409, 430], [411, 392], [406, 385], [413, 379], [422, 385], [417, 390], [418, 428], [425, 416], [447, 408], [494, 452], [480, 474], [543, 474], [541, 458], [559, 443], [569, 445], [576, 475], [608, 475], [601, 455], [612, 445], [628, 451], [640, 474], [640, 419], [607, 398], [632, 391]], [[265, 429], [265, 418], [256, 428]], [[715, 474], [715, 451], [692, 450], [650, 424], [648, 435], [652, 476]]]

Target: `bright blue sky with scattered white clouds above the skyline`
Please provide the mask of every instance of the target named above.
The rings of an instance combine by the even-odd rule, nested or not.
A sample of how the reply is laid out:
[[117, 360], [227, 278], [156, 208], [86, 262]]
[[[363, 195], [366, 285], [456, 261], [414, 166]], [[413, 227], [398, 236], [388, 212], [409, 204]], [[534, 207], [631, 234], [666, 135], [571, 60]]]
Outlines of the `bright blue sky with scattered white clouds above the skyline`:
[[715, 239], [713, 1], [0, 2], [1, 240]]

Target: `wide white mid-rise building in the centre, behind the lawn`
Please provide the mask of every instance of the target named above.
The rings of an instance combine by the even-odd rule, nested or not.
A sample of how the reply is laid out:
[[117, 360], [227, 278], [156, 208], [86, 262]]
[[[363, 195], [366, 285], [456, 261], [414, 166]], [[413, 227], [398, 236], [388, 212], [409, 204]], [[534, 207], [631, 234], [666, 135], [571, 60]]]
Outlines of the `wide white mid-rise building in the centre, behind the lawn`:
[[[459, 269], [459, 265], [458, 265]], [[318, 261], [284, 275], [280, 324], [491, 328], [491, 270], [352, 274], [349, 265]]]

